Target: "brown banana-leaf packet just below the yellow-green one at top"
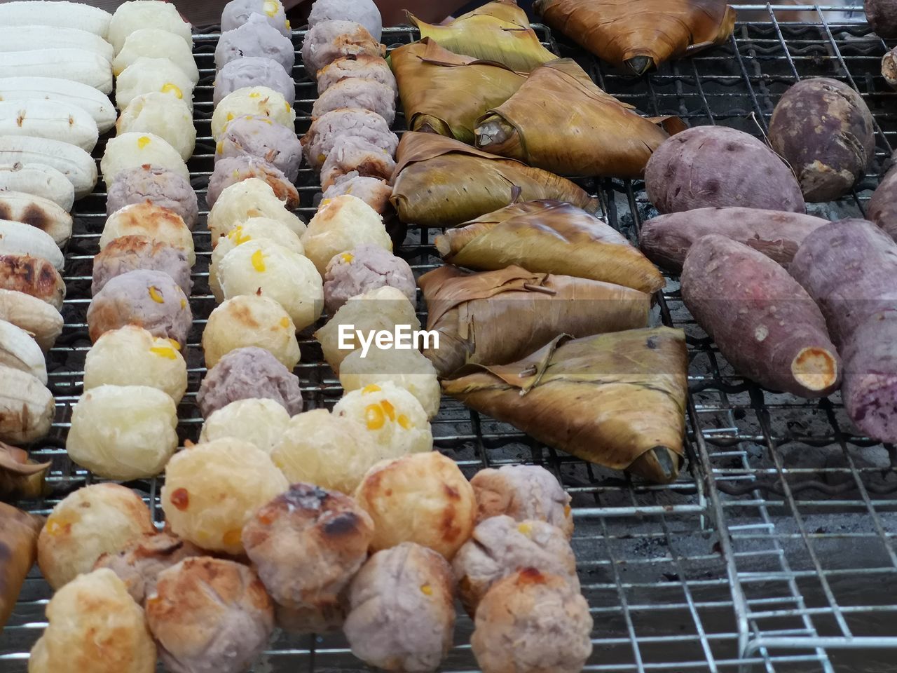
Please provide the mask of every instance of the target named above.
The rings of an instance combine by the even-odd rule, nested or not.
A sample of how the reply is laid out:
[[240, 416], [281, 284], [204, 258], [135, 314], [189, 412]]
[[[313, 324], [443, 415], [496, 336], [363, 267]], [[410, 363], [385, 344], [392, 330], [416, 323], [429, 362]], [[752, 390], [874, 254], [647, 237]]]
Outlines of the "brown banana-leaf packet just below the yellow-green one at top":
[[527, 80], [501, 64], [453, 54], [430, 38], [397, 48], [389, 64], [408, 128], [469, 144], [477, 118], [507, 101]]

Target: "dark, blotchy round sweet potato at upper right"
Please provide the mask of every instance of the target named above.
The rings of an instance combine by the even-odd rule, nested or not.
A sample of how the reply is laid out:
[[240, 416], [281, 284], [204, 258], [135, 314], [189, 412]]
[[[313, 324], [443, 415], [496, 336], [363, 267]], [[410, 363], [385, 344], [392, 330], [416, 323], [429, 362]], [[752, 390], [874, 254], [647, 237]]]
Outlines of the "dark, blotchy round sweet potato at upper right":
[[803, 80], [772, 113], [770, 143], [797, 173], [806, 201], [833, 201], [853, 188], [875, 153], [872, 113], [845, 83]]

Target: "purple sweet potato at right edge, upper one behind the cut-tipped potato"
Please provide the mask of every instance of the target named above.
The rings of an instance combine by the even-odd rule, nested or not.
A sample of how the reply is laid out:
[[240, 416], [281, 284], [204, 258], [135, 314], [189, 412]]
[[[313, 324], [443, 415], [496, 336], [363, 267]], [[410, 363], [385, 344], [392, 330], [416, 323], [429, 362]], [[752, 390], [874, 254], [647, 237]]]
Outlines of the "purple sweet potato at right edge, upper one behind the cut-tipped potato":
[[819, 227], [797, 249], [788, 272], [822, 309], [839, 347], [875, 313], [897, 310], [897, 244], [871, 222]]

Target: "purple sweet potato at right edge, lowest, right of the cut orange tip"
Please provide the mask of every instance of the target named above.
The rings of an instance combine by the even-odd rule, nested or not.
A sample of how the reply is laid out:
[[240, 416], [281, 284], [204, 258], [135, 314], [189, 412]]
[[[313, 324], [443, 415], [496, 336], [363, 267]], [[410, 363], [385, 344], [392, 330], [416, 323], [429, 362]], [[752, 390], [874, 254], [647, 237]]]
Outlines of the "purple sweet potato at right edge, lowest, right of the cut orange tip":
[[897, 441], [897, 312], [875, 313], [854, 329], [844, 348], [848, 415], [858, 430]]

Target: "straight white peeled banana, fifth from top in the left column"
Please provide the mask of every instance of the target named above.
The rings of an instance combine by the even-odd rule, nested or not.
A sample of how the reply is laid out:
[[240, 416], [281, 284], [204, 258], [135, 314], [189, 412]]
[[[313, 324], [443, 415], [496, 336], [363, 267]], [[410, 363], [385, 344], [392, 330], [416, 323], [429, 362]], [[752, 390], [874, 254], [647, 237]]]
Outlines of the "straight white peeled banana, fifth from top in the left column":
[[25, 99], [0, 101], [0, 135], [49, 138], [93, 152], [100, 129], [87, 112], [72, 103]]

